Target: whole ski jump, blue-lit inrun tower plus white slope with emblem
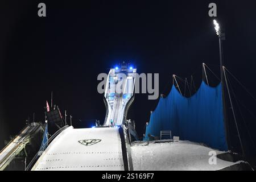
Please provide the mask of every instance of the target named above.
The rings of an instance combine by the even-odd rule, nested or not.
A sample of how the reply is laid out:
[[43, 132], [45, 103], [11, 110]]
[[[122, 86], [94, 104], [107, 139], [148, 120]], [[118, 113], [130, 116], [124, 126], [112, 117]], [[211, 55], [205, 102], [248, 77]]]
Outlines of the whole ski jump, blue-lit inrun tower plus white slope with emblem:
[[[68, 127], [53, 139], [32, 170], [133, 170], [123, 124], [134, 98], [135, 73], [136, 69], [127, 64], [110, 69], [104, 95], [104, 127]], [[115, 92], [119, 85], [121, 93]]]

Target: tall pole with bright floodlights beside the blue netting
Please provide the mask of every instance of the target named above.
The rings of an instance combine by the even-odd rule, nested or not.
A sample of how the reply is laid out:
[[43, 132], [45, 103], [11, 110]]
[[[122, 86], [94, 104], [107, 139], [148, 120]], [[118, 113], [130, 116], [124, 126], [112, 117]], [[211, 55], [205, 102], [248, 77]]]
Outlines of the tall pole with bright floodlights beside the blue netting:
[[225, 78], [224, 78], [224, 71], [222, 68], [224, 66], [222, 41], [225, 40], [225, 34], [221, 31], [220, 25], [215, 19], [213, 20], [213, 24], [216, 30], [216, 34], [218, 35], [218, 46], [220, 51], [220, 75], [221, 75], [221, 88], [222, 88], [223, 115], [224, 115], [224, 123], [225, 123], [225, 130], [226, 130], [226, 141], [228, 142], [228, 147], [229, 147], [230, 138], [229, 138], [228, 118], [226, 117]]

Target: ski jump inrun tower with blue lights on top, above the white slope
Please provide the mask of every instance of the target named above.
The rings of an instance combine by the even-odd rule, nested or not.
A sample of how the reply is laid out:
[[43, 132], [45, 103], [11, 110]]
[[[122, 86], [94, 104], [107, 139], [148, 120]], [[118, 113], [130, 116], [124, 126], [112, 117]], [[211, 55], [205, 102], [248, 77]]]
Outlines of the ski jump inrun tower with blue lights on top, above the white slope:
[[136, 69], [123, 63], [110, 69], [104, 102], [106, 117], [104, 126], [120, 126], [126, 121], [126, 115], [134, 100]]

